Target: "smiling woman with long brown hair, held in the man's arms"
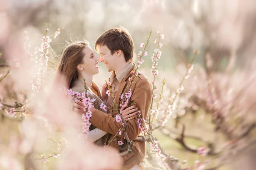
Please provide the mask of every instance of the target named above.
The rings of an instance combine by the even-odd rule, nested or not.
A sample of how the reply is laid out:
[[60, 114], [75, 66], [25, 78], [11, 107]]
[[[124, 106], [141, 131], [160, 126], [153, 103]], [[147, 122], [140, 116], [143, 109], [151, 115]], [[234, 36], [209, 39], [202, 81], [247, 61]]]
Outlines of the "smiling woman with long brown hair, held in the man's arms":
[[[94, 107], [105, 112], [100, 108], [100, 104], [107, 100], [106, 95], [107, 86], [102, 86], [102, 92], [99, 90], [98, 85], [93, 82], [93, 75], [99, 73], [99, 57], [94, 54], [94, 51], [86, 41], [73, 42], [68, 45], [63, 54], [57, 68], [57, 76], [63, 76], [66, 82], [65, 87], [82, 93], [84, 89], [84, 79], [88, 88], [88, 93], [91, 99], [96, 99]], [[58, 77], [57, 77], [58, 78]], [[104, 99], [102, 99], [102, 96]], [[72, 108], [73, 110], [74, 108]], [[135, 113], [128, 113], [128, 111], [134, 109], [129, 107], [122, 111], [122, 116], [127, 118], [126, 121], [133, 119]], [[74, 113], [77, 114], [77, 113]], [[81, 120], [81, 115], [80, 120]], [[81, 128], [80, 128], [81, 129]], [[99, 130], [95, 126], [90, 126], [90, 131], [87, 134], [87, 138], [90, 142], [95, 142], [97, 145], [103, 145], [102, 136], [106, 134], [105, 131]]]

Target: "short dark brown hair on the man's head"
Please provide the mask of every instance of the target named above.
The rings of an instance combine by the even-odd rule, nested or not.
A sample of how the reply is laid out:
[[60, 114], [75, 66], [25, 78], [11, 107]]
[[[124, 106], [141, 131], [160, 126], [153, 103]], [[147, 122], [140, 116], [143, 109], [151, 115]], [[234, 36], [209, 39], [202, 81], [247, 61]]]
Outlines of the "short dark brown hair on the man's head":
[[107, 45], [113, 55], [115, 51], [122, 50], [125, 61], [132, 61], [134, 52], [134, 41], [131, 34], [124, 27], [110, 28], [102, 33], [95, 42], [95, 50], [99, 52], [99, 45]]

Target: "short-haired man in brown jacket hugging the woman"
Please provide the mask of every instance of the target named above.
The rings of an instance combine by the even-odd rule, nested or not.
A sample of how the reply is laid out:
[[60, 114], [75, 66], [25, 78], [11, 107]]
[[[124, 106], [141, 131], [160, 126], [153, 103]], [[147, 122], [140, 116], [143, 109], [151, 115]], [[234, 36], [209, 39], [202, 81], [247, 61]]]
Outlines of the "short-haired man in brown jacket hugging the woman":
[[[114, 98], [112, 99], [111, 96], [108, 96], [106, 105], [109, 108], [114, 108], [114, 103], [119, 107], [119, 102], [121, 101], [120, 96], [127, 92], [127, 87], [131, 82], [129, 81], [129, 77], [134, 76], [131, 74], [131, 71], [136, 70], [135, 64], [132, 63], [134, 53], [133, 39], [127, 29], [123, 27], [111, 28], [98, 37], [95, 43], [95, 49], [100, 54], [100, 62], [103, 62], [106, 65], [109, 72], [112, 71], [109, 81], [112, 83], [111, 88]], [[141, 111], [141, 117], [146, 119], [152, 99], [151, 83], [140, 73], [133, 82], [134, 83], [131, 86], [132, 95], [130, 101], [136, 102], [137, 108]], [[116, 114], [117, 112], [111, 109], [108, 111], [108, 114], [95, 108], [92, 109], [90, 123], [108, 133], [103, 137], [103, 143], [106, 145], [109, 144], [119, 129], [122, 128], [121, 122], [116, 122]], [[137, 116], [134, 116], [134, 119], [127, 122], [127, 134], [131, 141], [135, 140], [141, 133], [137, 121]], [[116, 141], [109, 144], [110, 146], [119, 149], [120, 153], [127, 150], [127, 141], [123, 136], [124, 134], [117, 134]], [[134, 145], [131, 153], [123, 157], [123, 169], [144, 169], [144, 159], [146, 154], [145, 142], [134, 141], [133, 143]]]

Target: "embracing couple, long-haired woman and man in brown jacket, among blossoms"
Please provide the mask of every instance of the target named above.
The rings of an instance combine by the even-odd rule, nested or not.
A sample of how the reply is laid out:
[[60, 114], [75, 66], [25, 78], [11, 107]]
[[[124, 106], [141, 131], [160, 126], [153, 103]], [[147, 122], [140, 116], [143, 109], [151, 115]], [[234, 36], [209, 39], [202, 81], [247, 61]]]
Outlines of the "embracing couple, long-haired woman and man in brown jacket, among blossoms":
[[[113, 108], [113, 103], [119, 104], [120, 97], [127, 91], [130, 84], [131, 75], [136, 70], [136, 65], [132, 62], [134, 53], [134, 41], [131, 34], [123, 27], [111, 28], [102, 33], [96, 40], [95, 51], [100, 54], [98, 57], [88, 42], [80, 41], [68, 45], [58, 65], [57, 75], [64, 76], [67, 82], [67, 88], [79, 93], [84, 92], [84, 79], [87, 85], [88, 94], [91, 99], [96, 99], [96, 103], [104, 102], [108, 108]], [[99, 74], [98, 64], [103, 62], [108, 70], [112, 72], [108, 81], [111, 82], [111, 95], [106, 92], [108, 85], [105, 83], [100, 91], [98, 85], [93, 81], [93, 75]], [[141, 111], [141, 118], [146, 119], [152, 99], [152, 87], [145, 75], [139, 73], [131, 85], [130, 102], [136, 102], [136, 107], [131, 104], [130, 107], [118, 106], [118, 111], [122, 113], [127, 127], [126, 132], [133, 148], [131, 153], [123, 157], [123, 168], [125, 170], [143, 170], [145, 162], [145, 142], [134, 141], [141, 130], [138, 125], [137, 109]], [[113, 98], [111, 97], [113, 96]], [[76, 114], [84, 113], [84, 105], [81, 101], [76, 101], [73, 110]], [[123, 153], [127, 150], [127, 141], [123, 134], [117, 133], [122, 128], [122, 121], [116, 121], [117, 110], [108, 109], [105, 111], [100, 105], [94, 105], [91, 108], [92, 116], [90, 118], [90, 131], [87, 134], [88, 139], [97, 145], [108, 145], [116, 136], [116, 141], [111, 142], [109, 146]], [[122, 145], [122, 146], [120, 146]]]

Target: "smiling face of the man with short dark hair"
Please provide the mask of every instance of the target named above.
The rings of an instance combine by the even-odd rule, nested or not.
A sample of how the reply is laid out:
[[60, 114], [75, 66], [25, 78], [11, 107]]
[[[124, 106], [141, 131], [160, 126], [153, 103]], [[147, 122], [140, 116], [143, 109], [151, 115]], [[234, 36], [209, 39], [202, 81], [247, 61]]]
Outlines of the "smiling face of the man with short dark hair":
[[99, 61], [106, 65], [108, 72], [115, 71], [116, 67], [116, 52], [112, 55], [107, 45], [99, 46]]

